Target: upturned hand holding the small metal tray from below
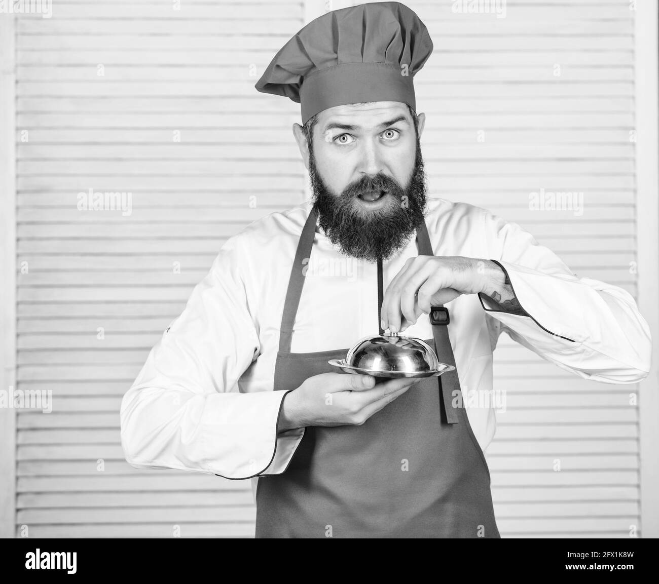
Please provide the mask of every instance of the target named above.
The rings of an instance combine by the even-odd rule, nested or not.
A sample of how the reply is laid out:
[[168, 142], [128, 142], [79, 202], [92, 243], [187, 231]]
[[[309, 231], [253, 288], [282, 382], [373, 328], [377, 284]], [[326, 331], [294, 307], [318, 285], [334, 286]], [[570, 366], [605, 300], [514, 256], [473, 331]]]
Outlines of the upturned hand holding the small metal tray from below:
[[371, 375], [346, 373], [309, 377], [284, 397], [277, 431], [306, 426], [360, 426], [420, 379], [375, 381]]

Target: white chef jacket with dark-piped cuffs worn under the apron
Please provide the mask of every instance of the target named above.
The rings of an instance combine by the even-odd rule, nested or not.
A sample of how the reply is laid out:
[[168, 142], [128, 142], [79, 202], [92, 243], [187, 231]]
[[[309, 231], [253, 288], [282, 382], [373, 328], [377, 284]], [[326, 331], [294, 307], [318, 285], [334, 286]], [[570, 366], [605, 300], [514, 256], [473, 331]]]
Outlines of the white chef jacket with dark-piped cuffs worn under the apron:
[[[310, 209], [306, 201], [272, 213], [221, 247], [123, 397], [121, 444], [132, 466], [253, 477], [254, 490], [258, 475], [285, 471], [304, 429], [277, 435], [285, 390], [273, 391], [273, 372], [291, 266]], [[463, 392], [492, 389], [492, 351], [502, 331], [585, 379], [635, 383], [646, 377], [650, 331], [628, 292], [577, 278], [521, 226], [480, 207], [429, 198], [426, 225], [435, 255], [499, 261], [529, 315], [492, 310], [478, 294], [446, 304]], [[416, 255], [412, 236], [384, 262], [385, 289]], [[377, 281], [376, 264], [341, 255], [317, 228], [291, 352], [348, 350], [377, 334]], [[405, 335], [432, 338], [428, 316]], [[470, 408], [469, 400], [464, 405], [485, 450], [496, 411]]]

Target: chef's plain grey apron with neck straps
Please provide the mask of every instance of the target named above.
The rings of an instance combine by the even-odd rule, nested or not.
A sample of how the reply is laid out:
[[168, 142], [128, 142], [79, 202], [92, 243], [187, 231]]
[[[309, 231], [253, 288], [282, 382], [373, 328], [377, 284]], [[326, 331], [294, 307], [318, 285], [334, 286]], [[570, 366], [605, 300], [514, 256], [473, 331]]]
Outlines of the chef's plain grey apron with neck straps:
[[[274, 390], [337, 373], [328, 360], [349, 350], [290, 352], [315, 228], [312, 209], [291, 270]], [[420, 255], [434, 255], [425, 223], [416, 244]], [[381, 305], [378, 262], [380, 334]], [[455, 366], [448, 310], [432, 307], [430, 321], [434, 338], [426, 342], [440, 362]], [[485, 457], [465, 409], [451, 406], [459, 392], [457, 370], [449, 371], [422, 379], [360, 426], [306, 427], [287, 469], [258, 478], [256, 537], [500, 537]]]

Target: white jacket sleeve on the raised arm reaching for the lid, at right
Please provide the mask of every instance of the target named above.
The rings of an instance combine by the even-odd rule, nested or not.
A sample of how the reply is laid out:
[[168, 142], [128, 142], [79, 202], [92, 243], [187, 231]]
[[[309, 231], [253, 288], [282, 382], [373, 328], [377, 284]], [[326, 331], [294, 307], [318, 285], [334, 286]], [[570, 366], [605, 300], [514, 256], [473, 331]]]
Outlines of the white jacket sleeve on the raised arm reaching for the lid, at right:
[[548, 248], [517, 225], [484, 212], [488, 259], [507, 273], [529, 316], [492, 309], [488, 327], [585, 379], [635, 383], [650, 370], [650, 329], [631, 294], [599, 280], [579, 278]]

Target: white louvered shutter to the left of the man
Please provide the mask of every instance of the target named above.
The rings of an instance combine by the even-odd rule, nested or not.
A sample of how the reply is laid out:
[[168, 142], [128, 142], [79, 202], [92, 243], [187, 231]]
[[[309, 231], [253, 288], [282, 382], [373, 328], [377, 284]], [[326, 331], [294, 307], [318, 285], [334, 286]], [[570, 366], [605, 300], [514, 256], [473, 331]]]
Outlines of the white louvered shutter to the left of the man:
[[[304, 7], [172, 5], [58, 0], [16, 24], [18, 388], [54, 402], [18, 415], [31, 537], [254, 533], [250, 481], [130, 467], [119, 406], [221, 244], [304, 198], [299, 106], [254, 90]], [[78, 211], [90, 188], [132, 192], [132, 215]]]

